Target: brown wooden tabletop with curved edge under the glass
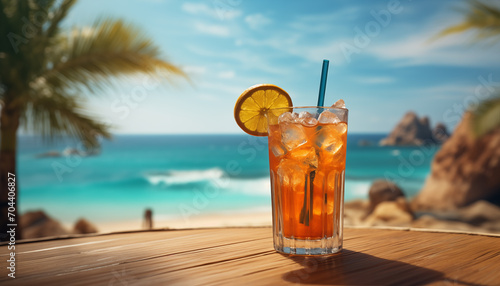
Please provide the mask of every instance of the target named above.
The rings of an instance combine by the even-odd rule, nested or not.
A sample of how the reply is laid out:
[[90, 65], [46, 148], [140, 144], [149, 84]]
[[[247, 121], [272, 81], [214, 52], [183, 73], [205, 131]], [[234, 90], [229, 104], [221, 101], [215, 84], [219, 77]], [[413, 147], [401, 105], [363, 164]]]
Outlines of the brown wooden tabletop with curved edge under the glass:
[[1, 285], [500, 285], [500, 237], [344, 230], [344, 250], [287, 256], [271, 228], [161, 230], [0, 246]]

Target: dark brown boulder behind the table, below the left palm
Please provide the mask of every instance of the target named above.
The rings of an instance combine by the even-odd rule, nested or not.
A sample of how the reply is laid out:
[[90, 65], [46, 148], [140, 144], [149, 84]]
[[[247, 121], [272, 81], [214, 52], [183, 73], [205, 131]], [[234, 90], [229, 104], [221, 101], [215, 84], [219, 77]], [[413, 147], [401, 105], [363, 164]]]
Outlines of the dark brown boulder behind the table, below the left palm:
[[69, 234], [61, 223], [43, 211], [31, 211], [21, 215], [20, 226], [23, 239]]

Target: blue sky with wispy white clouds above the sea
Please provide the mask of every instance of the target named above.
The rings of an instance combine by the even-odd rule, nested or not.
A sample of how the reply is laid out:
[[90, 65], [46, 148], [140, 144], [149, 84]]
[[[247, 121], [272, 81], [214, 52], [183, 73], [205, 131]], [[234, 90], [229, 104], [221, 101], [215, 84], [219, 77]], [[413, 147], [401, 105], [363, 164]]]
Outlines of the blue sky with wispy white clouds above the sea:
[[459, 0], [82, 0], [64, 25], [125, 19], [189, 76], [137, 75], [105, 96], [89, 95], [89, 110], [114, 133], [242, 133], [233, 108], [246, 88], [272, 83], [295, 106], [315, 105], [323, 59], [330, 60], [325, 105], [345, 100], [349, 132], [387, 133], [409, 110], [452, 130], [468, 106], [500, 86], [498, 45], [474, 43], [472, 33], [434, 38], [460, 23], [467, 7]]

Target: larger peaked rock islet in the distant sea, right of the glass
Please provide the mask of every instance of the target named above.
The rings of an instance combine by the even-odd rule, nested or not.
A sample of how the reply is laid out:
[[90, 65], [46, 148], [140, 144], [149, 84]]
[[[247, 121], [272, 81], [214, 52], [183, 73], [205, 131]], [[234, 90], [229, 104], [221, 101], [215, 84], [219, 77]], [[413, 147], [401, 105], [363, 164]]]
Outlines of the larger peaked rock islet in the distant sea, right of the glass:
[[436, 143], [432, 136], [429, 118], [419, 118], [410, 111], [396, 125], [387, 138], [380, 141], [380, 145], [423, 145]]

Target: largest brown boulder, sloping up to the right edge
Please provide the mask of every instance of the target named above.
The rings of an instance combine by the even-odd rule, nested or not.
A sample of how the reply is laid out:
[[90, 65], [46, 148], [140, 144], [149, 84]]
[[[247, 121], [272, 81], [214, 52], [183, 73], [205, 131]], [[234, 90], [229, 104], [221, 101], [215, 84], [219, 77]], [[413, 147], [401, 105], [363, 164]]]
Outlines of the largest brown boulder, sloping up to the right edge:
[[466, 113], [443, 144], [431, 174], [412, 201], [418, 210], [450, 210], [500, 196], [500, 128], [475, 138]]

